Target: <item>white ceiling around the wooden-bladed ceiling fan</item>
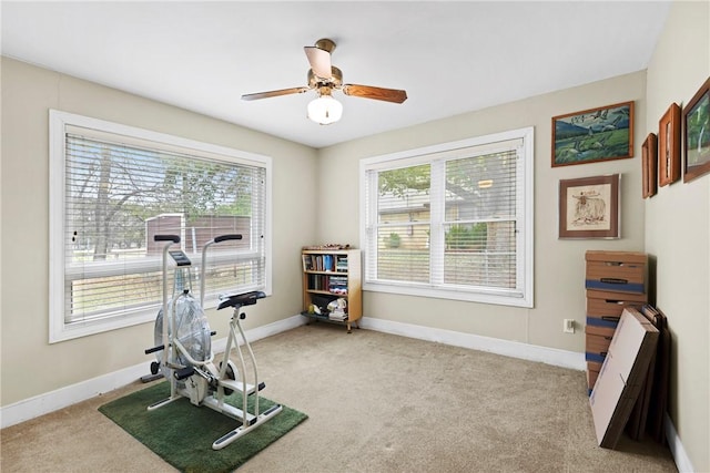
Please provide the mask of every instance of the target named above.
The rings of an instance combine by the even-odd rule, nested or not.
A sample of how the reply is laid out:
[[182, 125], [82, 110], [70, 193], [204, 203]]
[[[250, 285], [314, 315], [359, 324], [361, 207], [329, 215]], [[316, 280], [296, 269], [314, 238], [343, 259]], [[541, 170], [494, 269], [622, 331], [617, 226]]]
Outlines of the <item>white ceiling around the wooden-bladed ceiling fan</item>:
[[[9, 2], [2, 54], [313, 147], [646, 69], [669, 1]], [[402, 105], [336, 93], [306, 119], [303, 47], [337, 43], [345, 83], [407, 91]], [[565, 113], [567, 111], [560, 111]], [[572, 111], [569, 111], [572, 112]]]

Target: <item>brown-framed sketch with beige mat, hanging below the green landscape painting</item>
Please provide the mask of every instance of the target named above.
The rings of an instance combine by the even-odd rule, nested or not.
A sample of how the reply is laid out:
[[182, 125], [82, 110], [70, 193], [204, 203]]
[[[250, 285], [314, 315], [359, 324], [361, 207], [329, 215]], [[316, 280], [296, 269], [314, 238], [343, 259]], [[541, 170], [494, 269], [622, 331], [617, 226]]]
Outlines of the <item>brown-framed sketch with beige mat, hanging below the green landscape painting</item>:
[[560, 179], [559, 238], [620, 238], [621, 175]]

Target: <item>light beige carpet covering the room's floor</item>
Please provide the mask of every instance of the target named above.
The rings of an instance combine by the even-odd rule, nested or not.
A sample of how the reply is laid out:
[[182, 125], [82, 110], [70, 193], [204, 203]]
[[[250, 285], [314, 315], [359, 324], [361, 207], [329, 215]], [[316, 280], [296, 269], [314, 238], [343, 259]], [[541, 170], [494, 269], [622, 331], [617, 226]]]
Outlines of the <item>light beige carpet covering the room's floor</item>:
[[[308, 420], [240, 472], [677, 471], [650, 440], [597, 446], [581, 371], [325, 323], [253, 348], [263, 394]], [[0, 470], [174, 471], [97, 411], [141, 388], [4, 429]]]

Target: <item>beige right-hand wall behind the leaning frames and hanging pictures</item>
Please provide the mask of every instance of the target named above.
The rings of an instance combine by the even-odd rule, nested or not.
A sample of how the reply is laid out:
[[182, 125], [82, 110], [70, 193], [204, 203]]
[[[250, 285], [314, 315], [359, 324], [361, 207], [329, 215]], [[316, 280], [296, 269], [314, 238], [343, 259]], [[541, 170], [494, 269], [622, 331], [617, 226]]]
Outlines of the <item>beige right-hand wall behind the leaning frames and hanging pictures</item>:
[[[710, 76], [710, 2], [676, 1], [648, 68], [646, 132]], [[698, 472], [710, 471], [710, 175], [647, 199], [646, 250], [672, 333], [670, 418]]]

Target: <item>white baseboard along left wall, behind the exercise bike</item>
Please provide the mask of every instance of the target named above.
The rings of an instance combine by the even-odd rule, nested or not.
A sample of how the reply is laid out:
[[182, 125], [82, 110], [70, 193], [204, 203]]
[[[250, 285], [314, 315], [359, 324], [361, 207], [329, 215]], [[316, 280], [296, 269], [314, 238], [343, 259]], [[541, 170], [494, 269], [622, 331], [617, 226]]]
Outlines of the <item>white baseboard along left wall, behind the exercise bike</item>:
[[[303, 316], [297, 315], [274, 323], [246, 330], [245, 335], [250, 341], [255, 341], [282, 331], [291, 330], [304, 323], [305, 320]], [[225, 346], [226, 338], [215, 340], [213, 342], [213, 350], [215, 352], [223, 351]], [[58, 411], [78, 402], [85, 401], [87, 399], [95, 398], [104, 392], [130, 384], [149, 373], [149, 363], [142, 362], [6, 405], [0, 409], [0, 429]]]

